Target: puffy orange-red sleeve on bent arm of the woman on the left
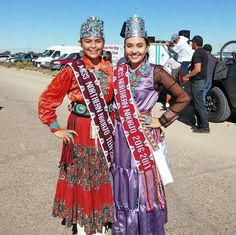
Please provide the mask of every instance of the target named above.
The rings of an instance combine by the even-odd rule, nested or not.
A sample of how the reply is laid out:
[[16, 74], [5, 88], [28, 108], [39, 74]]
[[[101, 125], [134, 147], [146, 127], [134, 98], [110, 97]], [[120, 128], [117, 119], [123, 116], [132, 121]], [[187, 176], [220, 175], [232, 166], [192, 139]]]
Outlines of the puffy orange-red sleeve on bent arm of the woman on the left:
[[38, 116], [42, 123], [48, 125], [52, 132], [60, 129], [57, 122], [56, 108], [61, 105], [69, 92], [73, 72], [68, 67], [59, 72], [48, 87], [42, 92], [38, 101]]

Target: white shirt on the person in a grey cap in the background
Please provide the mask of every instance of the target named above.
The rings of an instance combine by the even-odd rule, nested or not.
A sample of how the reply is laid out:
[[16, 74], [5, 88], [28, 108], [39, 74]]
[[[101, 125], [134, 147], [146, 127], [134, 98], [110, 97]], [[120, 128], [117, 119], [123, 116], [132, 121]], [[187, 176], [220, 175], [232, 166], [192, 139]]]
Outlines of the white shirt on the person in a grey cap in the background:
[[188, 38], [179, 36], [179, 41], [174, 45], [172, 50], [178, 55], [178, 62], [191, 61], [193, 56], [193, 49], [188, 44]]

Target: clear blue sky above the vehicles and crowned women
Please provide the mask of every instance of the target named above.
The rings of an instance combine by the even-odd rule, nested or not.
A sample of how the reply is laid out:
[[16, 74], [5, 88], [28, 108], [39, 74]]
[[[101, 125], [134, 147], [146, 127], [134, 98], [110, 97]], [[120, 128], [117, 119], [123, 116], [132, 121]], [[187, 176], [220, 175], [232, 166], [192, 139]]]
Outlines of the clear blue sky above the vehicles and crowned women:
[[236, 40], [235, 9], [236, 0], [0, 0], [0, 52], [77, 45], [80, 25], [92, 15], [104, 21], [107, 44], [122, 44], [122, 23], [134, 14], [156, 39], [169, 40], [186, 29], [217, 52]]

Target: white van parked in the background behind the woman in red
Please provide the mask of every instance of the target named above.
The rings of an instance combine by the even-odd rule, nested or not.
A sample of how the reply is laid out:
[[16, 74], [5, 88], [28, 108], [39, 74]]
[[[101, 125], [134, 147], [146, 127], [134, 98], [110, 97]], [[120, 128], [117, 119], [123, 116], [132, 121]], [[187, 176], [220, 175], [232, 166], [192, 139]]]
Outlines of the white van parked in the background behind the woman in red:
[[70, 53], [80, 52], [80, 46], [65, 46], [57, 45], [48, 47], [43, 53], [42, 56], [38, 57], [34, 61], [34, 65], [37, 67], [46, 67], [51, 60], [58, 59], [61, 56], [68, 55]]

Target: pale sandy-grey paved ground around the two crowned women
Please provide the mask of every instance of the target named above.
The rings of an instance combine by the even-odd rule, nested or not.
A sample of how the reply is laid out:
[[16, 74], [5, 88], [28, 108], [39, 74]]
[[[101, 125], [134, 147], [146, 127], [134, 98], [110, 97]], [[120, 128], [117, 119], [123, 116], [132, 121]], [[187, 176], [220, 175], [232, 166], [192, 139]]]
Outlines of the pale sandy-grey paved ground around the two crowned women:
[[[0, 234], [71, 234], [52, 218], [60, 140], [37, 117], [50, 77], [0, 67]], [[65, 101], [65, 104], [67, 101]], [[65, 105], [59, 109], [65, 124]], [[210, 134], [186, 124], [166, 129], [174, 184], [166, 187], [167, 235], [236, 234], [236, 119]], [[81, 233], [79, 233], [81, 234]]]

